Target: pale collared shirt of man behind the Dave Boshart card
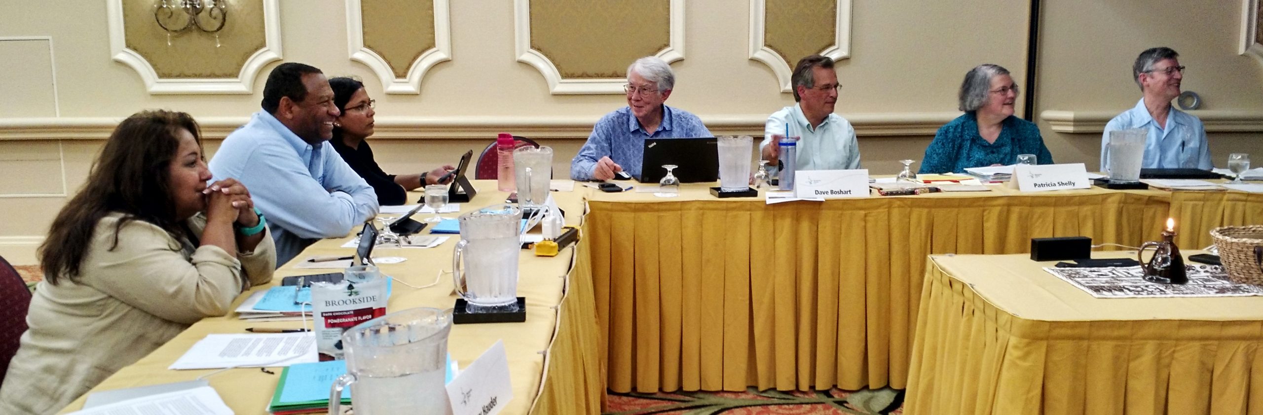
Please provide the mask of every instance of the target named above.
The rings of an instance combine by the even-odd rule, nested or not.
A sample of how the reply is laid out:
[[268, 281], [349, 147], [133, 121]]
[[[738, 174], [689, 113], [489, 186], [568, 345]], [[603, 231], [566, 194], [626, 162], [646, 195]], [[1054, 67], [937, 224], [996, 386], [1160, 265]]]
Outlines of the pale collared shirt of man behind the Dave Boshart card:
[[[772, 143], [772, 135], [786, 134], [786, 124], [789, 124], [789, 135], [798, 136], [797, 164], [798, 170], [849, 170], [860, 168], [860, 146], [855, 140], [855, 129], [842, 116], [830, 114], [818, 126], [812, 126], [807, 116], [802, 114], [798, 105], [781, 108], [768, 116], [764, 126], [762, 150]], [[773, 172], [769, 167], [768, 172]]]

